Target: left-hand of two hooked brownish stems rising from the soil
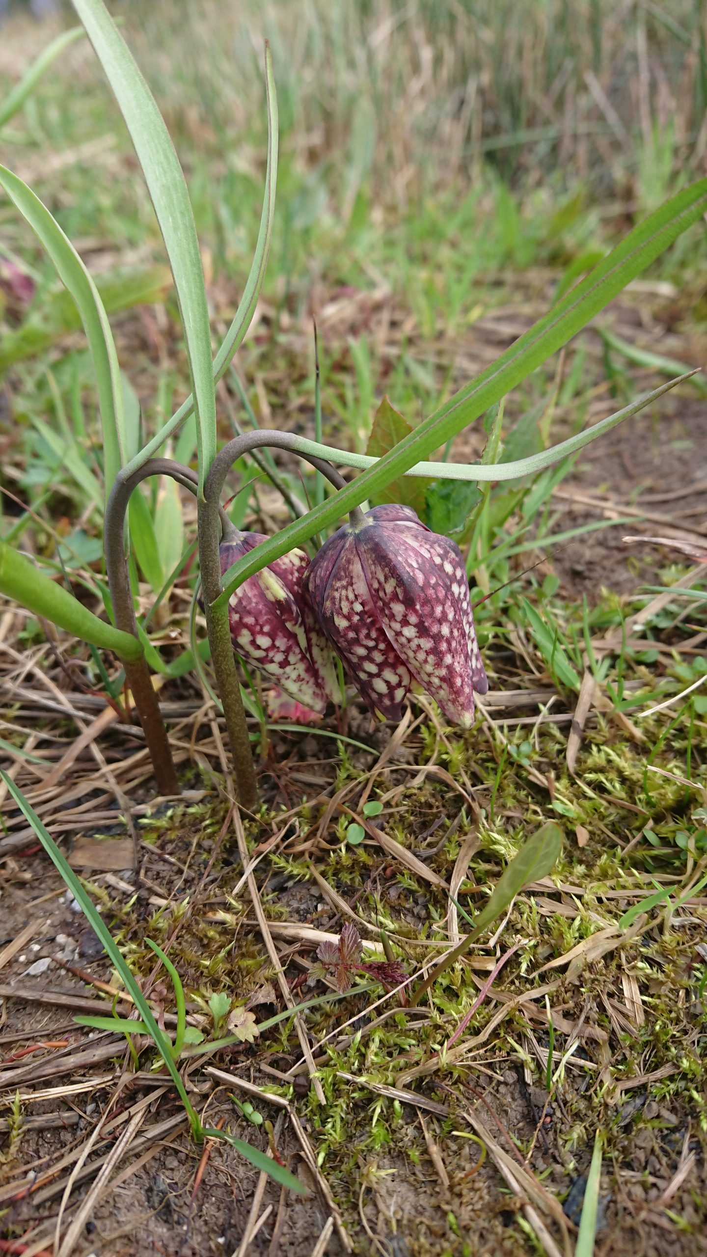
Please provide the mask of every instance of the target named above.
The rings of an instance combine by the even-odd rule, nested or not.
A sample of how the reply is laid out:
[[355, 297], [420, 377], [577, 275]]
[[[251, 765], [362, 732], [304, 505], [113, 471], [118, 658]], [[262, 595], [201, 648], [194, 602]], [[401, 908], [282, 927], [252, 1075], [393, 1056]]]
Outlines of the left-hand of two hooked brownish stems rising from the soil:
[[[131, 493], [141, 480], [145, 480], [150, 475], [171, 475], [172, 479], [186, 489], [190, 489], [194, 494], [198, 491], [199, 484], [199, 478], [191, 468], [182, 466], [180, 463], [172, 463], [170, 459], [150, 459], [145, 466], [140, 468], [131, 476], [123, 478], [118, 474], [116, 478], [106, 507], [103, 525], [106, 568], [116, 625], [125, 632], [132, 634], [133, 637], [137, 637], [138, 632], [125, 551], [125, 520]], [[230, 529], [233, 525], [225, 512], [219, 509], [219, 514], [224, 532], [226, 528]], [[161, 794], [179, 794], [179, 782], [167, 730], [165, 729], [147, 662], [142, 657], [135, 664], [123, 664], [123, 666], [140, 723], [145, 730], [145, 740], [150, 758], [152, 759], [157, 788]]]

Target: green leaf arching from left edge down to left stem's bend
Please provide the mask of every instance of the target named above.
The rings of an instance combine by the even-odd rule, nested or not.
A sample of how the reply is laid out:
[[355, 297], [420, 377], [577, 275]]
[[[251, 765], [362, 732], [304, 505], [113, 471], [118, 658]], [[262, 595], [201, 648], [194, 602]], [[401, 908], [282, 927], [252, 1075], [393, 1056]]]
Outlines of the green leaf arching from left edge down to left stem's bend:
[[113, 486], [113, 480], [123, 463], [125, 415], [123, 392], [118, 356], [108, 316], [98, 289], [93, 283], [73, 244], [62, 231], [45, 205], [21, 178], [0, 166], [0, 185], [16, 205], [23, 217], [29, 222], [42, 246], [54, 263], [59, 279], [72, 294], [88, 339], [98, 405], [103, 425], [103, 456], [106, 476], [106, 502]]

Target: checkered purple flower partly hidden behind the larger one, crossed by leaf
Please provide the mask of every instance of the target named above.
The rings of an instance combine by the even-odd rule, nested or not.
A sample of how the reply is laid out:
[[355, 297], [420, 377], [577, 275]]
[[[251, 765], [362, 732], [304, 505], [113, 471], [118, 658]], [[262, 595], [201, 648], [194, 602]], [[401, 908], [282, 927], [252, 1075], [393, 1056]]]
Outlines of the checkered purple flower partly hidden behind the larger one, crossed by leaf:
[[[219, 547], [221, 574], [267, 539], [262, 533], [229, 535]], [[321, 714], [327, 699], [337, 699], [338, 684], [331, 647], [303, 586], [308, 564], [307, 554], [294, 549], [250, 576], [230, 597], [229, 627], [234, 650], [247, 664], [309, 713]]]

